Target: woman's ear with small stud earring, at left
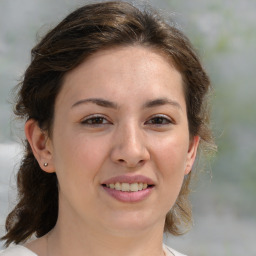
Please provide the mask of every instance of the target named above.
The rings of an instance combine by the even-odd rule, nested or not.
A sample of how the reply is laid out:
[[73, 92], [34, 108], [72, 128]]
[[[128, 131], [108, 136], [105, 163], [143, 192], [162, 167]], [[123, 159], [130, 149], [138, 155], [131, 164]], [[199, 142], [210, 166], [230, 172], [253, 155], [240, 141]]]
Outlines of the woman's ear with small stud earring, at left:
[[47, 133], [42, 131], [37, 121], [29, 119], [25, 124], [25, 135], [41, 169], [54, 172], [52, 142]]

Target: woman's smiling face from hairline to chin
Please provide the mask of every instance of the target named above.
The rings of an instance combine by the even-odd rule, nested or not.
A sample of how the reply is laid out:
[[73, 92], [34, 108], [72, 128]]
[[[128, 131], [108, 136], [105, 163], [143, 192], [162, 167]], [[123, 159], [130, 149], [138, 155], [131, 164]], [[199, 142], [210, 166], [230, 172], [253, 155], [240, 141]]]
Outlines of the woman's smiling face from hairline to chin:
[[59, 218], [109, 232], [162, 229], [197, 143], [182, 77], [165, 57], [138, 46], [94, 54], [56, 99]]

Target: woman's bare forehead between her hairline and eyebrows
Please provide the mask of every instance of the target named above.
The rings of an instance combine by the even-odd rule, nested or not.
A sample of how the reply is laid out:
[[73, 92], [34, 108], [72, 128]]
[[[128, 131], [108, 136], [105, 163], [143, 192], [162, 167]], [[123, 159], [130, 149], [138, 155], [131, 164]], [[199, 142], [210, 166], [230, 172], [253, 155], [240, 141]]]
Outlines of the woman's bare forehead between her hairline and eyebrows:
[[151, 48], [117, 47], [96, 52], [68, 72], [57, 101], [102, 94], [121, 99], [124, 94], [154, 95], [160, 90], [183, 94], [181, 74], [170, 58]]

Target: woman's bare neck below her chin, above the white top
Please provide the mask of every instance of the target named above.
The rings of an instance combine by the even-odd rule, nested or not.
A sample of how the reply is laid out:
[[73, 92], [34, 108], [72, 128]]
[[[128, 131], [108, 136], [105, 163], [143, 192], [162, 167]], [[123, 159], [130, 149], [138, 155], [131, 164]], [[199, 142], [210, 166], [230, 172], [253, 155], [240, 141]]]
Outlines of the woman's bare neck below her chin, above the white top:
[[[48, 235], [47, 256], [162, 256], [163, 228], [140, 232], [110, 232], [103, 228], [58, 221]], [[58, 246], [55, 246], [58, 245]]]

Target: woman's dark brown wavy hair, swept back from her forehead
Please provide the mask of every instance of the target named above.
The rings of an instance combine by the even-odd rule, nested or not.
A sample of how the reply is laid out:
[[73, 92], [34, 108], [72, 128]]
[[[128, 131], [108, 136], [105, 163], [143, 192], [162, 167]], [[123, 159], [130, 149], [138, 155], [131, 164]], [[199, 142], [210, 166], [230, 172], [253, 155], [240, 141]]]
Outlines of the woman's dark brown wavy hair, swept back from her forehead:
[[[151, 8], [140, 10], [126, 2], [85, 5], [61, 21], [32, 49], [31, 63], [18, 85], [15, 114], [34, 119], [51, 136], [54, 105], [65, 74], [103, 49], [138, 45], [157, 50], [181, 73], [190, 136], [200, 136], [200, 147], [214, 145], [209, 128], [208, 92], [211, 88], [188, 38]], [[192, 221], [188, 200], [191, 172], [166, 215], [165, 232], [180, 235]], [[56, 224], [58, 181], [55, 173], [44, 172], [28, 141], [17, 174], [18, 202], [6, 219], [10, 243], [41, 237]]]

